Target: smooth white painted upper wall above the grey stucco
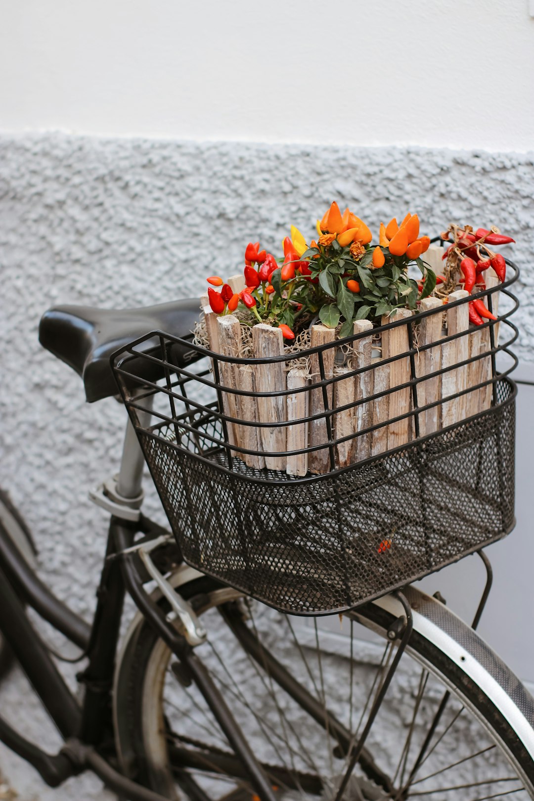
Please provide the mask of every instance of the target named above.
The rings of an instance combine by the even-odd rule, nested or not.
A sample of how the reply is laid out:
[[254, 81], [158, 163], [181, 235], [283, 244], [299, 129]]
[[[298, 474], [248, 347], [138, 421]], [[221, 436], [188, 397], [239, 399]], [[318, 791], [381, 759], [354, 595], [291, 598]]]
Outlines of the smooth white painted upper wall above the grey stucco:
[[0, 131], [534, 147], [528, 0], [0, 0], [0, 11]]

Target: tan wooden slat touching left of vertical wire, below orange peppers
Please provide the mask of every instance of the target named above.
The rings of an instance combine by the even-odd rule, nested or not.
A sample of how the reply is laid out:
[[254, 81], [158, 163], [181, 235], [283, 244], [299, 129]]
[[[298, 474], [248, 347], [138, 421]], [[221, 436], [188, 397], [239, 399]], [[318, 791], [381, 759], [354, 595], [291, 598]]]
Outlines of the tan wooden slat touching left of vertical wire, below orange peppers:
[[[398, 308], [389, 317], [382, 318], [382, 324], [393, 323], [396, 320], [412, 317], [412, 312], [408, 308]], [[399, 353], [408, 351], [408, 325], [399, 325], [398, 328], [390, 328], [384, 331], [382, 335], [382, 358], [389, 359], [391, 356], [397, 356]], [[402, 359], [392, 361], [388, 365], [389, 368], [389, 386], [390, 388], [397, 387], [399, 384], [405, 384], [411, 380], [412, 372], [410, 370], [410, 357], [405, 356]], [[389, 396], [389, 417], [399, 417], [412, 409], [412, 389], [406, 387], [399, 389], [398, 392], [391, 392]], [[388, 447], [397, 448], [399, 445], [404, 445], [412, 439], [412, 419], [405, 417], [404, 420], [399, 420], [396, 423], [390, 423], [388, 426], [389, 431]]]

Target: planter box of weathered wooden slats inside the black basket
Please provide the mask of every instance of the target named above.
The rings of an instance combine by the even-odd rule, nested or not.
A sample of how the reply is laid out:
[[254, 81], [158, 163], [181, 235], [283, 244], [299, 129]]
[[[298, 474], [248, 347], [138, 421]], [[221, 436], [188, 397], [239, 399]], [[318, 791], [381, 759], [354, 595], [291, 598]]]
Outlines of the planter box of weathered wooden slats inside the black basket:
[[[431, 248], [430, 259], [441, 263], [441, 252]], [[241, 288], [239, 280], [241, 276], [231, 280], [235, 291]], [[497, 283], [496, 274], [488, 270], [487, 288]], [[492, 293], [494, 313], [498, 296]], [[467, 297], [464, 290], [453, 292], [448, 305], [426, 298], [420, 312], [427, 315], [413, 316], [399, 309], [382, 320], [382, 326], [397, 323], [390, 328], [373, 329], [368, 320], [358, 320], [354, 324], [357, 338], [345, 344], [343, 352], [335, 344], [334, 329], [313, 325], [310, 352], [287, 354], [285, 360], [280, 358], [286, 351], [279, 328], [255, 325], [253, 356], [267, 361], [236, 364], [214, 359], [223, 412], [232, 418], [226, 433], [232, 457], [254, 469], [295, 477], [329, 473], [488, 409], [493, 384], [476, 386], [492, 379], [492, 357], [488, 354], [456, 367], [491, 348], [490, 326], [470, 328], [468, 302], [452, 305]], [[207, 305], [203, 312], [214, 355], [239, 359], [242, 338], [237, 317], [217, 316]], [[493, 328], [496, 342], [498, 324]], [[456, 334], [460, 335], [456, 339], [441, 341]], [[416, 352], [410, 354], [412, 343]], [[314, 348], [321, 348], [320, 354]], [[412, 379], [416, 379], [415, 391], [413, 386], [403, 386]], [[395, 387], [400, 388], [392, 391]], [[448, 400], [458, 392], [464, 394]], [[415, 402], [417, 409], [428, 408], [414, 413]], [[412, 414], [402, 417], [408, 413]]]

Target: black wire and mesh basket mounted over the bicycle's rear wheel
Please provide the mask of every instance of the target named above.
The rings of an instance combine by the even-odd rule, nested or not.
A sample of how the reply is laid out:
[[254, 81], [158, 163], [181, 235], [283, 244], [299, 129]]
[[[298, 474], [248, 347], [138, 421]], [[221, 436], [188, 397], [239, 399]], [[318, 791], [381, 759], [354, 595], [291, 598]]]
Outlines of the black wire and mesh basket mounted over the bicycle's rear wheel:
[[[509, 533], [515, 522], [516, 397], [508, 377], [516, 357], [509, 346], [517, 329], [508, 318], [518, 304], [508, 287], [519, 272], [511, 262], [508, 267], [511, 279], [480, 294], [488, 296], [490, 310], [497, 291], [508, 306], [496, 322], [488, 320], [479, 329], [487, 347], [474, 355], [464, 349], [467, 358], [444, 364], [433, 374], [435, 380], [440, 376], [443, 380], [448, 373], [460, 375], [459, 371], [480, 363], [489, 365], [488, 377], [479, 371], [476, 375], [484, 380], [460, 384], [457, 392], [418, 405], [418, 388], [428, 380], [420, 376], [418, 360], [425, 349], [430, 352], [430, 345], [417, 343], [418, 327], [425, 317], [443, 315], [443, 307], [418, 313], [408, 322], [397, 320], [375, 328], [375, 337], [401, 324], [408, 328], [408, 349], [381, 360], [382, 365], [404, 360], [409, 365], [408, 380], [356, 399], [341, 411], [351, 412], [356, 420], [359, 406], [398, 392], [408, 392], [409, 403], [393, 418], [374, 424], [367, 419], [367, 425], [355, 425], [349, 434], [343, 429], [343, 437], [336, 438], [340, 409], [332, 407], [329, 390], [336, 382], [356, 380], [374, 367], [353, 363], [336, 375], [325, 370], [325, 364], [329, 349], [356, 348], [362, 334], [268, 360], [222, 356], [164, 332], [151, 332], [114, 354], [112, 366], [122, 398], [185, 561], [278, 610], [328, 614], [423, 578]], [[447, 308], [462, 307], [468, 300], [472, 298]], [[504, 332], [509, 334], [501, 344], [497, 326], [500, 340], [505, 339]], [[472, 334], [473, 329], [448, 333], [440, 347]], [[148, 351], [147, 340], [153, 343]], [[191, 363], [179, 366], [183, 359], [176, 353], [183, 354], [184, 349]], [[511, 366], [498, 372], [500, 353], [508, 355]], [[241, 447], [230, 427], [261, 431], [275, 424], [232, 416], [228, 398], [286, 402], [295, 391], [230, 386], [222, 377], [227, 365], [254, 370], [274, 362], [287, 372], [303, 356], [315, 357], [319, 374], [297, 393], [319, 392], [323, 409], [299, 417], [298, 424], [322, 421], [323, 441], [314, 445], [308, 440], [306, 447], [287, 449], [283, 457], [322, 451], [327, 454], [327, 469], [295, 476], [269, 466], [251, 466], [255, 464], [251, 458], [263, 454], [267, 461], [269, 454]], [[463, 397], [481, 398], [481, 392], [488, 397], [488, 408], [424, 433], [421, 421], [429, 410]], [[463, 408], [465, 414], [473, 407]], [[372, 437], [402, 421], [408, 441], [340, 464], [340, 445]], [[287, 429], [291, 422], [276, 425]]]

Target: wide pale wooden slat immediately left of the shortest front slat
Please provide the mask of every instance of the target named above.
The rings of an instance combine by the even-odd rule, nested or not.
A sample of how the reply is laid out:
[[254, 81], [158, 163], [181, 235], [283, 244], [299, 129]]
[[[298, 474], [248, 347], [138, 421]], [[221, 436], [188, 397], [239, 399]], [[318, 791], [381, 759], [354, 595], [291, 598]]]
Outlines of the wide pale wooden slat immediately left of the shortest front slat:
[[[279, 328], [259, 323], [252, 328], [252, 348], [256, 359], [272, 359], [283, 356], [283, 335]], [[283, 392], [287, 388], [284, 363], [271, 362], [255, 364], [256, 392]], [[259, 397], [258, 418], [271, 425], [260, 429], [263, 451], [282, 453], [286, 449], [286, 428], [280, 426], [286, 420], [286, 396]], [[264, 457], [265, 465], [271, 470], [285, 470], [286, 457]]]

